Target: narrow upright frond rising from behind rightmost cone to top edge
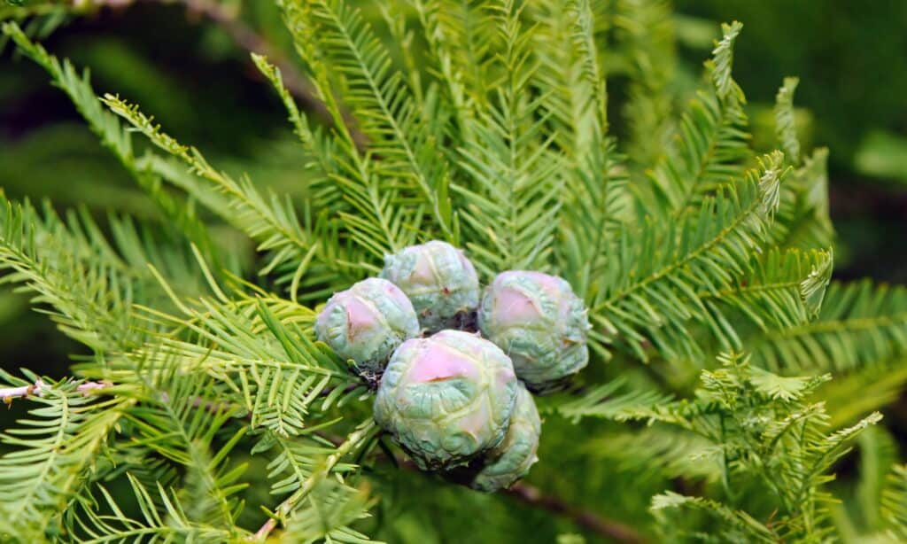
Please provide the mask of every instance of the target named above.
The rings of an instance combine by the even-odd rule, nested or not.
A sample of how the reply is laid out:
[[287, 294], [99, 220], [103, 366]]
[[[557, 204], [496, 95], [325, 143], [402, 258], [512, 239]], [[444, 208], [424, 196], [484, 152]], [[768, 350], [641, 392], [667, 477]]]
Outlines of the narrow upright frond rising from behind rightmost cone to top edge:
[[580, 296], [597, 286], [603, 249], [628, 219], [626, 167], [607, 134], [608, 96], [600, 65], [596, 20], [589, 2], [529, 5], [539, 21], [532, 34], [540, 69], [541, 109], [548, 116], [558, 148], [567, 157], [562, 169], [563, 203], [555, 254], [562, 275]]

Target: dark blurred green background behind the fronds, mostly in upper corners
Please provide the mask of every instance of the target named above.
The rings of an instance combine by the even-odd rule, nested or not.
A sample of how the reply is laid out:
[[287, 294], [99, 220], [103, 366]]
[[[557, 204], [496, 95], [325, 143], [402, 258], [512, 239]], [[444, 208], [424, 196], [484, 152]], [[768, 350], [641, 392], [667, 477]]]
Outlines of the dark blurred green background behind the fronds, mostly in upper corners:
[[[271, 2], [111, 2], [67, 19], [44, 39], [52, 53], [91, 67], [98, 92], [118, 92], [180, 141], [231, 172], [293, 193], [297, 151], [282, 107], [258, 80], [248, 49], [294, 63]], [[118, 4], [120, 6], [111, 6]], [[364, 3], [366, 4], [366, 3]], [[368, 2], [368, 16], [381, 17]], [[907, 2], [875, 0], [678, 0], [678, 75], [696, 77], [717, 23], [745, 24], [734, 72], [746, 91], [757, 144], [772, 138], [771, 107], [786, 75], [801, 78], [795, 103], [808, 149], [831, 148], [831, 213], [840, 278], [907, 283]], [[619, 84], [612, 101], [622, 100]], [[618, 136], [624, 127], [615, 119]], [[150, 200], [85, 128], [46, 74], [6, 46], [0, 53], [0, 187], [148, 217]], [[238, 244], [240, 260], [254, 258]], [[24, 296], [0, 293], [0, 360], [62, 374], [80, 348], [54, 332]]]

